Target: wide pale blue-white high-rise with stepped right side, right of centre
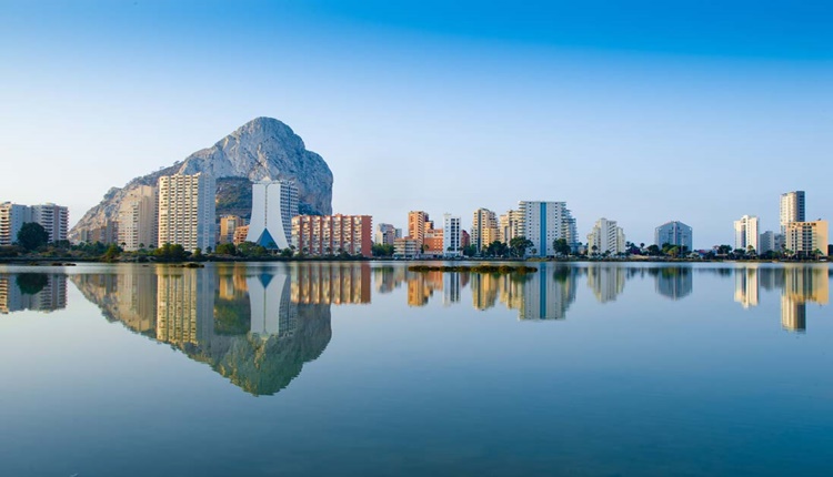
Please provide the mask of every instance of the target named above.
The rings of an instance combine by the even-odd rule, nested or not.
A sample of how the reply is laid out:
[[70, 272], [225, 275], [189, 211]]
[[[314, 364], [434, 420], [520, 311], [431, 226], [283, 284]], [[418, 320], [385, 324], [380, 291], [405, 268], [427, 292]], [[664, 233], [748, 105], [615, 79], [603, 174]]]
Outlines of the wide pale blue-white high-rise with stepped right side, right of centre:
[[521, 201], [519, 209], [523, 216], [523, 235], [532, 242], [529, 255], [554, 255], [553, 242], [558, 238], [566, 240], [571, 248], [576, 248], [575, 219], [566, 209], [566, 202]]

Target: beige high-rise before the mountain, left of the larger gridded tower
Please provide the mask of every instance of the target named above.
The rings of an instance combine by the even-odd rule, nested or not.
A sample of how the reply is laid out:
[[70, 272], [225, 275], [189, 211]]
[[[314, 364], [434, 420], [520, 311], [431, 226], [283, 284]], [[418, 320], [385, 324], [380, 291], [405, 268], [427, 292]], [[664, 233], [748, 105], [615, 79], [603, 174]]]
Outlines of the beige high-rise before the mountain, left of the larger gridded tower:
[[140, 185], [130, 191], [119, 206], [119, 243], [132, 252], [142, 245], [157, 245], [159, 221], [157, 187]]

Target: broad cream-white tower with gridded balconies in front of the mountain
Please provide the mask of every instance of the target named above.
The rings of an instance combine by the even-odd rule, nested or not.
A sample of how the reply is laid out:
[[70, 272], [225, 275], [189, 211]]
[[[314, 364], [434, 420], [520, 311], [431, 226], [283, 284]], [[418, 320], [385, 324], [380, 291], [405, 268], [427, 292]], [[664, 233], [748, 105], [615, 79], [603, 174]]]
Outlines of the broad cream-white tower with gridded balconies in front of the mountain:
[[205, 173], [159, 177], [159, 243], [187, 251], [213, 247], [217, 240], [217, 187]]

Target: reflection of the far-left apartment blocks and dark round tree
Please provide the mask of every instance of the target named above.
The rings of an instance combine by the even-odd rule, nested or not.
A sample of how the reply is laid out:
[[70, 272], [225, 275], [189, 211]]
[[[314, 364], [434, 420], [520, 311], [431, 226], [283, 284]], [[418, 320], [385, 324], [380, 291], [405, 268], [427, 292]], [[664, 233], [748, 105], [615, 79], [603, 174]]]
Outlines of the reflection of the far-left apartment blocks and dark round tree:
[[67, 307], [67, 275], [19, 273], [0, 275], [0, 314], [26, 309], [49, 313]]

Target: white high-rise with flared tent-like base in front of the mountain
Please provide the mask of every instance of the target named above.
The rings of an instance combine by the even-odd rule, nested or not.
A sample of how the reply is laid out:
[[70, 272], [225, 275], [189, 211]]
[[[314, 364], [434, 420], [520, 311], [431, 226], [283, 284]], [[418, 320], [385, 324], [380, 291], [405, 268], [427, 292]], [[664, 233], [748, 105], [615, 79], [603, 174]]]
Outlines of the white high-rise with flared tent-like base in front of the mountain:
[[252, 184], [252, 219], [247, 241], [267, 248], [287, 248], [292, 242], [292, 217], [298, 215], [298, 187], [289, 181]]

